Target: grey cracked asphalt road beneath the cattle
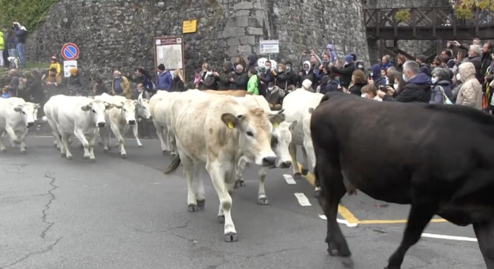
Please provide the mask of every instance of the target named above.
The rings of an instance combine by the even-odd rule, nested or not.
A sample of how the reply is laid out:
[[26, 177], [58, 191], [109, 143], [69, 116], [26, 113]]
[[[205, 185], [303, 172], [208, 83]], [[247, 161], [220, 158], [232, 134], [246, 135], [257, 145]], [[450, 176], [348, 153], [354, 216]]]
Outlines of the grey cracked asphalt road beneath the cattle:
[[[163, 175], [171, 158], [161, 155], [157, 140], [143, 140], [144, 148], [127, 140], [127, 159], [98, 148], [95, 163], [77, 146], [72, 161], [61, 158], [52, 141], [29, 137], [27, 155], [17, 148], [0, 154], [0, 268], [343, 268], [327, 254], [326, 223], [312, 185], [286, 183], [289, 169], [268, 172], [268, 206], [257, 204], [255, 167], [246, 169], [247, 185], [233, 195], [239, 241], [227, 243], [208, 177], [205, 211], [189, 213], [182, 173]], [[296, 192], [312, 206], [300, 206]], [[345, 197], [343, 205], [353, 218], [371, 223], [405, 219], [408, 209], [361, 193]], [[342, 224], [356, 268], [383, 268], [404, 225]], [[426, 232], [474, 237], [470, 227], [449, 223], [431, 223]], [[486, 267], [476, 242], [423, 237], [403, 268]]]

